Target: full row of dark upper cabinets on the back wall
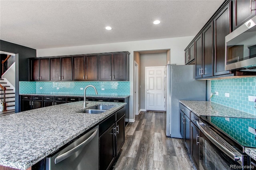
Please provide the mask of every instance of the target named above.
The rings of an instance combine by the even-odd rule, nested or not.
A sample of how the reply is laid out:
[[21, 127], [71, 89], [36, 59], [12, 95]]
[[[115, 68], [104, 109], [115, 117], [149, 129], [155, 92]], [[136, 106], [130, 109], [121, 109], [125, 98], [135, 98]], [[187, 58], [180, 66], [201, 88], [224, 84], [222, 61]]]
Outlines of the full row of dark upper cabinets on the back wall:
[[127, 52], [30, 59], [30, 81], [128, 81]]

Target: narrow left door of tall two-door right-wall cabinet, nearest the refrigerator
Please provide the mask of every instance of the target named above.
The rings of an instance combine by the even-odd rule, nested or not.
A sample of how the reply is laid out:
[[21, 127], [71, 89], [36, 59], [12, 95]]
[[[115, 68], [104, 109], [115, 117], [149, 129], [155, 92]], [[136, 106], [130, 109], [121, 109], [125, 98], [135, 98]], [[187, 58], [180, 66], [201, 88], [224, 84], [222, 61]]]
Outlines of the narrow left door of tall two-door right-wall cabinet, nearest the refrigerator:
[[195, 40], [195, 78], [202, 77], [202, 35], [198, 36]]

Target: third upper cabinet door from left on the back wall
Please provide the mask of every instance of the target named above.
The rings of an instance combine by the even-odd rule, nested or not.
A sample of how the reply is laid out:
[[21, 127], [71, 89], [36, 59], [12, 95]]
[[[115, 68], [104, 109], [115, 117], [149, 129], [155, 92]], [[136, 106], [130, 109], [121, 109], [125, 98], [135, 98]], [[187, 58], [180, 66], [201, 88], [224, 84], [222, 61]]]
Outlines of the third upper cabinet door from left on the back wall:
[[60, 58], [51, 58], [51, 80], [61, 80]]

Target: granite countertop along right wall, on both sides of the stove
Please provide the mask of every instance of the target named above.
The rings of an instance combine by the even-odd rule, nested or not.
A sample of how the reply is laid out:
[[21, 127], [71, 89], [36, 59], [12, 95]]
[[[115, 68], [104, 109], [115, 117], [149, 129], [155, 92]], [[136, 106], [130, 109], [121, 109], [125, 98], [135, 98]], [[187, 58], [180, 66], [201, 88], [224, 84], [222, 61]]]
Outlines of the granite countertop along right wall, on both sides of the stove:
[[[256, 119], [256, 115], [238, 111], [224, 105], [213, 103], [210, 101], [184, 101], [180, 100], [184, 106], [190, 111], [200, 116], [220, 116], [220, 117], [237, 117], [237, 118], [250, 118]], [[256, 160], [256, 148], [245, 148], [245, 153], [251, 158]]]

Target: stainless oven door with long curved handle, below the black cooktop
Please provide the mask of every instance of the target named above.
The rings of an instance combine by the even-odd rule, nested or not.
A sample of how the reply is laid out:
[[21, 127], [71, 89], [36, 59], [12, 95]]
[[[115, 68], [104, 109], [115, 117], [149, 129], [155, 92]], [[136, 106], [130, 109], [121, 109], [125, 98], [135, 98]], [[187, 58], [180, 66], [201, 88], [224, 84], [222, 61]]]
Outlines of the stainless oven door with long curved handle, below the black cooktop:
[[205, 123], [198, 123], [198, 127], [200, 127], [200, 169], [247, 169], [248, 156], [246, 154], [242, 154], [228, 144]]

